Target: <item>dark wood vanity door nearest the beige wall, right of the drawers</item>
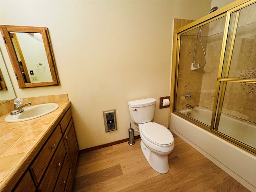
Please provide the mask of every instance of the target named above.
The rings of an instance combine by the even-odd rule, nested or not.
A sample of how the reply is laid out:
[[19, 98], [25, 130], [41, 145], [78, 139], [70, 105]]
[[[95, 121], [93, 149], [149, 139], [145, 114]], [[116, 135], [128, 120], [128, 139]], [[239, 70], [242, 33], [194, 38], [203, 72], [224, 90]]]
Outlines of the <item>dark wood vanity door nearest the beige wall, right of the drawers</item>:
[[73, 119], [71, 119], [68, 124], [68, 128], [63, 136], [66, 152], [68, 155], [68, 161], [70, 163], [70, 168], [74, 174], [76, 168], [76, 161], [78, 158], [78, 144], [76, 139], [76, 131], [73, 124]]

